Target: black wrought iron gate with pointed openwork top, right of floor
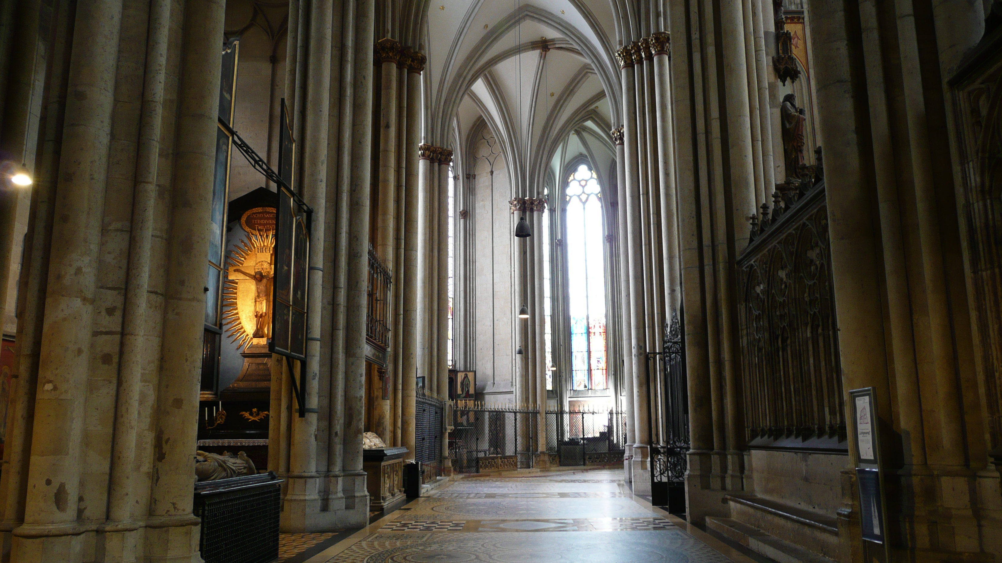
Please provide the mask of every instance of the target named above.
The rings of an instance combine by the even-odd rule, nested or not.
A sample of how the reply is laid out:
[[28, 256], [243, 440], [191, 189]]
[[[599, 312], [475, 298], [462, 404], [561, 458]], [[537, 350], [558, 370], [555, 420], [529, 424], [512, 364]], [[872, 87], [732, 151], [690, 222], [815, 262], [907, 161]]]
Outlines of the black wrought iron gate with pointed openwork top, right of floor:
[[[651, 504], [667, 506], [671, 514], [684, 514], [686, 454], [689, 450], [688, 383], [685, 376], [683, 335], [678, 315], [671, 314], [671, 323], [664, 328], [664, 341], [659, 353], [650, 354], [660, 370], [649, 370], [661, 378], [652, 391], [650, 402], [650, 494]], [[656, 406], [655, 406], [656, 403]], [[654, 409], [661, 411], [656, 417]]]

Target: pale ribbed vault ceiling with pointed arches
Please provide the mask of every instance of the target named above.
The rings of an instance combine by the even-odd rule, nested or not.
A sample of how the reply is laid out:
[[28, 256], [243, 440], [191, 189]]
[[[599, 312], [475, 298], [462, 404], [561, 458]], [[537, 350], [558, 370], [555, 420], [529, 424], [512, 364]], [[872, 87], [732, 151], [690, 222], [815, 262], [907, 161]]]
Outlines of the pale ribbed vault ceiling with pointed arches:
[[431, 0], [427, 13], [429, 142], [462, 151], [486, 121], [526, 195], [579, 155], [608, 167], [619, 121], [609, 0]]

